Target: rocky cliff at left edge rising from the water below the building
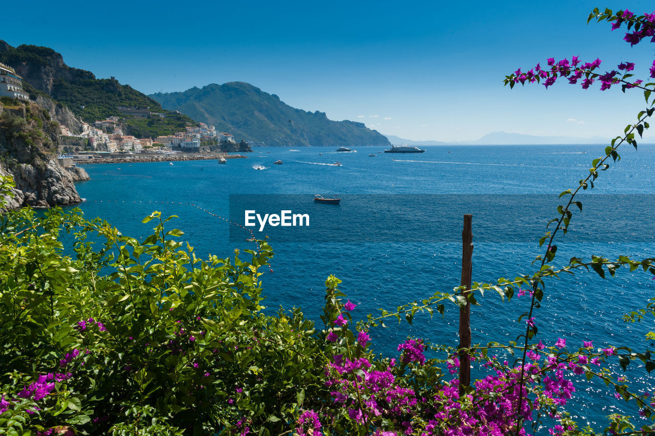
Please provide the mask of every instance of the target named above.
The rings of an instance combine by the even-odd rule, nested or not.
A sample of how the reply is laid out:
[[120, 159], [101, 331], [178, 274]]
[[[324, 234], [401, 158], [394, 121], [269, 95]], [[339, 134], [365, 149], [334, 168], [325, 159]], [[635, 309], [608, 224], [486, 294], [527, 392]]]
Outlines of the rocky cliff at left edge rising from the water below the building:
[[12, 209], [81, 202], [73, 177], [57, 162], [58, 124], [36, 103], [0, 101], [0, 175], [14, 178]]

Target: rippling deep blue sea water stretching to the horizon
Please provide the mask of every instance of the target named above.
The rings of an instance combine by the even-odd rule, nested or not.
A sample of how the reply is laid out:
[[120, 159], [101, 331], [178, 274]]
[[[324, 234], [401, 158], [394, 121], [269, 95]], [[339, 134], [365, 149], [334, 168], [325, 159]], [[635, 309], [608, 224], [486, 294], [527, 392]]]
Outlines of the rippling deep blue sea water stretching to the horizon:
[[[230, 209], [231, 194], [269, 198], [271, 204], [280, 198], [293, 198], [294, 204], [306, 198], [307, 209], [300, 203], [301, 211], [317, 219], [327, 213], [341, 227], [330, 227], [321, 218], [316, 226], [323, 222], [324, 227], [315, 234], [273, 237], [273, 272], [262, 280], [267, 310], [301, 306], [320, 327], [329, 274], [343, 280], [341, 289], [358, 304], [355, 318], [456, 287], [463, 213], [473, 215], [474, 281], [531, 274], [531, 262], [540, 253], [538, 240], [548, 220], [557, 216], [559, 192], [574, 189], [586, 177], [591, 160], [603, 155], [605, 145], [426, 148], [422, 154], [377, 153], [379, 147], [360, 147], [356, 153], [327, 147], [258, 148], [247, 159], [227, 164], [87, 164], [84, 169], [92, 179], [77, 183], [77, 189], [86, 198], [80, 208], [88, 217], [103, 217], [123, 234], [146, 236], [152, 226], [141, 219], [159, 210], [164, 216], [178, 215], [172, 226], [185, 232], [183, 238], [196, 255], [219, 257], [254, 247], [246, 242], [247, 232], [240, 238], [226, 221], [208, 213], [238, 218], [242, 212], [235, 215]], [[610, 162], [610, 169], [600, 173], [595, 189], [584, 193], [583, 211], [574, 210], [569, 234], [557, 236], [554, 266], [572, 256], [655, 257], [655, 147], [630, 147], [621, 154], [620, 162]], [[278, 159], [284, 164], [272, 164]], [[335, 161], [341, 166], [330, 165]], [[317, 205], [314, 194], [337, 194], [342, 202]], [[358, 229], [364, 230], [354, 232]], [[549, 345], [566, 338], [571, 350], [592, 339], [594, 346], [652, 349], [655, 344], [645, 342], [644, 335], [655, 330], [653, 319], [622, 321], [625, 312], [645, 307], [653, 297], [651, 277], [624, 268], [607, 280], [582, 271], [548, 280], [544, 302], [534, 315], [538, 338]], [[517, 318], [529, 308], [527, 298], [507, 302], [485, 293], [479, 302], [481, 306], [472, 308], [473, 342], [508, 342], [523, 331]], [[387, 322], [387, 328], [371, 332], [373, 346], [395, 355], [407, 335], [456, 346], [458, 310], [446, 306], [443, 318], [419, 314], [413, 325]], [[643, 368], [629, 371], [629, 377], [642, 390], [655, 386]], [[581, 424], [600, 428], [603, 416], [626, 410], [613, 393], [604, 385], [581, 382], [569, 410]]]

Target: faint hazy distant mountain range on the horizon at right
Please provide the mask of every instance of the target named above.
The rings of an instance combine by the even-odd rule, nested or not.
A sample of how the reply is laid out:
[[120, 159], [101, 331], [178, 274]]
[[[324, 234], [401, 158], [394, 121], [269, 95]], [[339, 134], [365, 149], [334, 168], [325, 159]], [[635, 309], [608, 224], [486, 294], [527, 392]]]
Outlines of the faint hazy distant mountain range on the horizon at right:
[[407, 145], [548, 145], [548, 144], [604, 144], [610, 139], [601, 136], [534, 136], [507, 132], [492, 132], [476, 141], [412, 141], [402, 137], [385, 135], [392, 144]]

